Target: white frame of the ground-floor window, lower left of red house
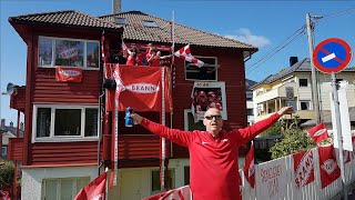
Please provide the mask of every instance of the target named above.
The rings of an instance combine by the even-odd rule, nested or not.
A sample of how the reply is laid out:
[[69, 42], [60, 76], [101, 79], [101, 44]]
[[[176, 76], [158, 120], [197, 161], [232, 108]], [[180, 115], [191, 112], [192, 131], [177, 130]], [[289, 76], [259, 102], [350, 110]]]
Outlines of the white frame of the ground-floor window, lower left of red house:
[[[57, 181], [57, 187], [55, 187], [55, 190], [57, 190], [57, 199], [61, 199], [61, 181], [62, 180], [72, 180], [73, 181], [73, 188], [72, 188], [72, 197], [74, 198], [78, 192], [81, 190], [81, 188], [78, 188], [78, 180], [79, 179], [85, 179], [85, 178], [89, 178], [89, 182], [90, 182], [90, 177], [75, 177], [75, 178], [58, 178], [58, 179], [43, 179], [42, 180], [42, 197], [41, 199], [44, 200], [45, 198], [45, 189], [47, 189], [47, 182], [45, 181]], [[88, 182], [88, 183], [89, 183]]]

